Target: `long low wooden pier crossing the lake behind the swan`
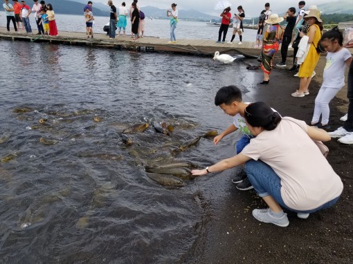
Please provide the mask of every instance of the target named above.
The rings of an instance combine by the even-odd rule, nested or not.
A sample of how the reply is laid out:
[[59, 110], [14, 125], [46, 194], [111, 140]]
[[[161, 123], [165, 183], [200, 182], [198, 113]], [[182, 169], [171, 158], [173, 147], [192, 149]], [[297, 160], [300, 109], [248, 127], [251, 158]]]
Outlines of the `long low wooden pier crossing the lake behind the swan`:
[[[154, 50], [159, 52], [188, 53], [193, 55], [214, 55], [227, 53], [230, 55], [240, 54], [245, 57], [257, 57], [260, 49], [255, 48], [255, 41], [243, 41], [242, 45], [216, 43], [213, 39], [178, 39], [177, 43], [169, 44], [169, 39], [159, 37], [143, 37], [133, 41], [131, 36], [120, 36], [116, 39], [109, 39], [107, 34], [95, 33], [94, 38], [87, 38], [85, 32], [60, 31], [57, 37], [27, 34], [23, 30], [10, 32], [4, 27], [0, 27], [0, 39], [12, 41], [50, 42], [53, 44], [67, 44], [80, 46], [97, 46], [104, 48], [117, 48], [127, 50]], [[349, 48], [353, 54], [353, 48]], [[324, 54], [324, 53], [322, 53]], [[278, 54], [280, 55], [280, 54]], [[293, 49], [289, 48], [288, 56], [293, 56]]]

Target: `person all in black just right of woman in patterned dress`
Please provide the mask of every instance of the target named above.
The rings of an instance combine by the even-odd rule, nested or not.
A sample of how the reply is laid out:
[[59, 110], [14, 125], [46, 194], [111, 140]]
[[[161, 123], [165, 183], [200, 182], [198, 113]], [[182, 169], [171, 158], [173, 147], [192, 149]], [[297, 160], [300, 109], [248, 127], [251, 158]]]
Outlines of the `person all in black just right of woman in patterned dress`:
[[276, 64], [279, 67], [287, 66], [287, 53], [289, 44], [291, 44], [293, 28], [296, 24], [296, 8], [289, 8], [289, 10], [284, 14], [283, 18], [287, 21], [287, 26], [284, 29], [282, 46], [281, 46], [281, 55], [282, 62]]

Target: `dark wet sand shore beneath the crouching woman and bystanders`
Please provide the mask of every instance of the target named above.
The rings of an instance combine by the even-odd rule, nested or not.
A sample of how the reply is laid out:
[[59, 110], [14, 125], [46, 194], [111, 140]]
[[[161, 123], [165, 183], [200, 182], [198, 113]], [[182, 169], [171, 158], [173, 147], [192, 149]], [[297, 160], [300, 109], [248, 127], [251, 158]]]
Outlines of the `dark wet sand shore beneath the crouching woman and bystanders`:
[[[279, 59], [275, 60], [275, 63]], [[289, 58], [291, 66], [291, 58]], [[287, 66], [287, 68], [289, 68]], [[271, 81], [261, 86], [255, 100], [267, 102], [282, 116], [296, 117], [309, 124], [314, 100], [322, 83], [325, 57], [316, 66], [316, 77], [309, 86], [310, 95], [291, 97], [299, 87], [298, 77], [284, 68], [274, 68]], [[258, 70], [258, 82], [262, 71]], [[347, 78], [346, 78], [347, 81]], [[330, 124], [334, 131], [347, 111], [347, 86], [330, 104]], [[266, 208], [255, 191], [239, 191], [231, 182], [235, 170], [210, 175], [203, 186], [205, 206], [210, 216], [203, 234], [182, 263], [352, 263], [353, 261], [353, 144], [327, 142], [329, 163], [343, 180], [341, 199], [329, 209], [311, 214], [306, 220], [288, 212], [288, 227], [261, 223], [251, 211]], [[232, 149], [225, 149], [232, 155]], [[295, 162], [295, 161], [293, 161]], [[298, 164], [300, 166], [300, 164]]]

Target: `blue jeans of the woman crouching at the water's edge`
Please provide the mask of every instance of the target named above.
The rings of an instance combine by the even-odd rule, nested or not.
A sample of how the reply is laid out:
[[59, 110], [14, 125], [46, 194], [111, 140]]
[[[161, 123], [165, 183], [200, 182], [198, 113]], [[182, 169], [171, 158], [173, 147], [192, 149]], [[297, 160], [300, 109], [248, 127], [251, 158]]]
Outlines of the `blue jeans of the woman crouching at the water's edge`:
[[320, 207], [307, 211], [298, 211], [296, 209], [291, 209], [284, 204], [284, 201], [282, 199], [280, 192], [280, 189], [282, 187], [280, 177], [278, 177], [278, 175], [275, 173], [275, 171], [273, 171], [271, 167], [269, 167], [269, 165], [262, 162], [261, 160], [249, 160], [245, 164], [245, 171], [246, 175], [248, 176], [248, 179], [250, 180], [255, 191], [260, 197], [272, 196], [281, 207], [284, 207], [291, 211], [295, 211], [297, 213], [314, 213], [314, 211], [331, 207], [339, 199], [338, 196], [337, 198], [326, 202]]

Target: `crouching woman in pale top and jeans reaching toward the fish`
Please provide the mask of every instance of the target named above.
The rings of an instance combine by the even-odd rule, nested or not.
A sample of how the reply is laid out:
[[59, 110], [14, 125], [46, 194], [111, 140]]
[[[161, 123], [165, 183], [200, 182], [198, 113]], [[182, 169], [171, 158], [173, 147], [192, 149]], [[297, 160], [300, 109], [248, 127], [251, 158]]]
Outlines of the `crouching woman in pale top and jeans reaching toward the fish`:
[[314, 142], [330, 140], [326, 131], [291, 117], [281, 118], [264, 102], [249, 104], [244, 117], [255, 136], [250, 144], [233, 158], [193, 170], [193, 175], [246, 163], [248, 179], [269, 206], [253, 210], [253, 216], [280, 227], [289, 225], [282, 207], [297, 212], [299, 218], [307, 218], [314, 211], [334, 205], [343, 183]]

